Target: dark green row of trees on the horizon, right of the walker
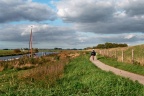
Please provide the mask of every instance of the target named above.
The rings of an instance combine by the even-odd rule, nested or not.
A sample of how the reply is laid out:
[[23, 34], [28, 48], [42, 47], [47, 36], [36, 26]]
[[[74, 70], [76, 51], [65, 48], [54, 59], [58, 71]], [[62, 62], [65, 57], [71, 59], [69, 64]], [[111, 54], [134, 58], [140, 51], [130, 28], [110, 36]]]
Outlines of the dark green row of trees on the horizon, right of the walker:
[[105, 44], [98, 44], [97, 46], [93, 47], [96, 49], [108, 49], [108, 48], [116, 48], [116, 47], [128, 47], [127, 44], [117, 44], [117, 43], [109, 43], [106, 42]]

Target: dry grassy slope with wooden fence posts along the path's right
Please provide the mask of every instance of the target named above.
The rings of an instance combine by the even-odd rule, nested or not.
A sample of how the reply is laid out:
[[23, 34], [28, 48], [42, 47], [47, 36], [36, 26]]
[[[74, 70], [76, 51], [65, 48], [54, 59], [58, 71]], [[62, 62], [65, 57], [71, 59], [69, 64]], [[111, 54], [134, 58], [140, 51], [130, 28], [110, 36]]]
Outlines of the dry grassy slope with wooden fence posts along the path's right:
[[144, 49], [135, 47], [97, 49], [97, 53], [117, 61], [144, 66]]

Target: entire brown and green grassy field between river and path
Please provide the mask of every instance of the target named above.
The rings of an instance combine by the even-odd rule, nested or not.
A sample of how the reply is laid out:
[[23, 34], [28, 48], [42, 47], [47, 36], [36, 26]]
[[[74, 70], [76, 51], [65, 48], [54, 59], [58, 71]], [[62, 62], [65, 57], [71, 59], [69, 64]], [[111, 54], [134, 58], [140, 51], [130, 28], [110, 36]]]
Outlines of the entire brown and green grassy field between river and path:
[[102, 71], [89, 54], [80, 54], [70, 59], [64, 53], [34, 69], [1, 72], [0, 96], [144, 96], [143, 85]]

